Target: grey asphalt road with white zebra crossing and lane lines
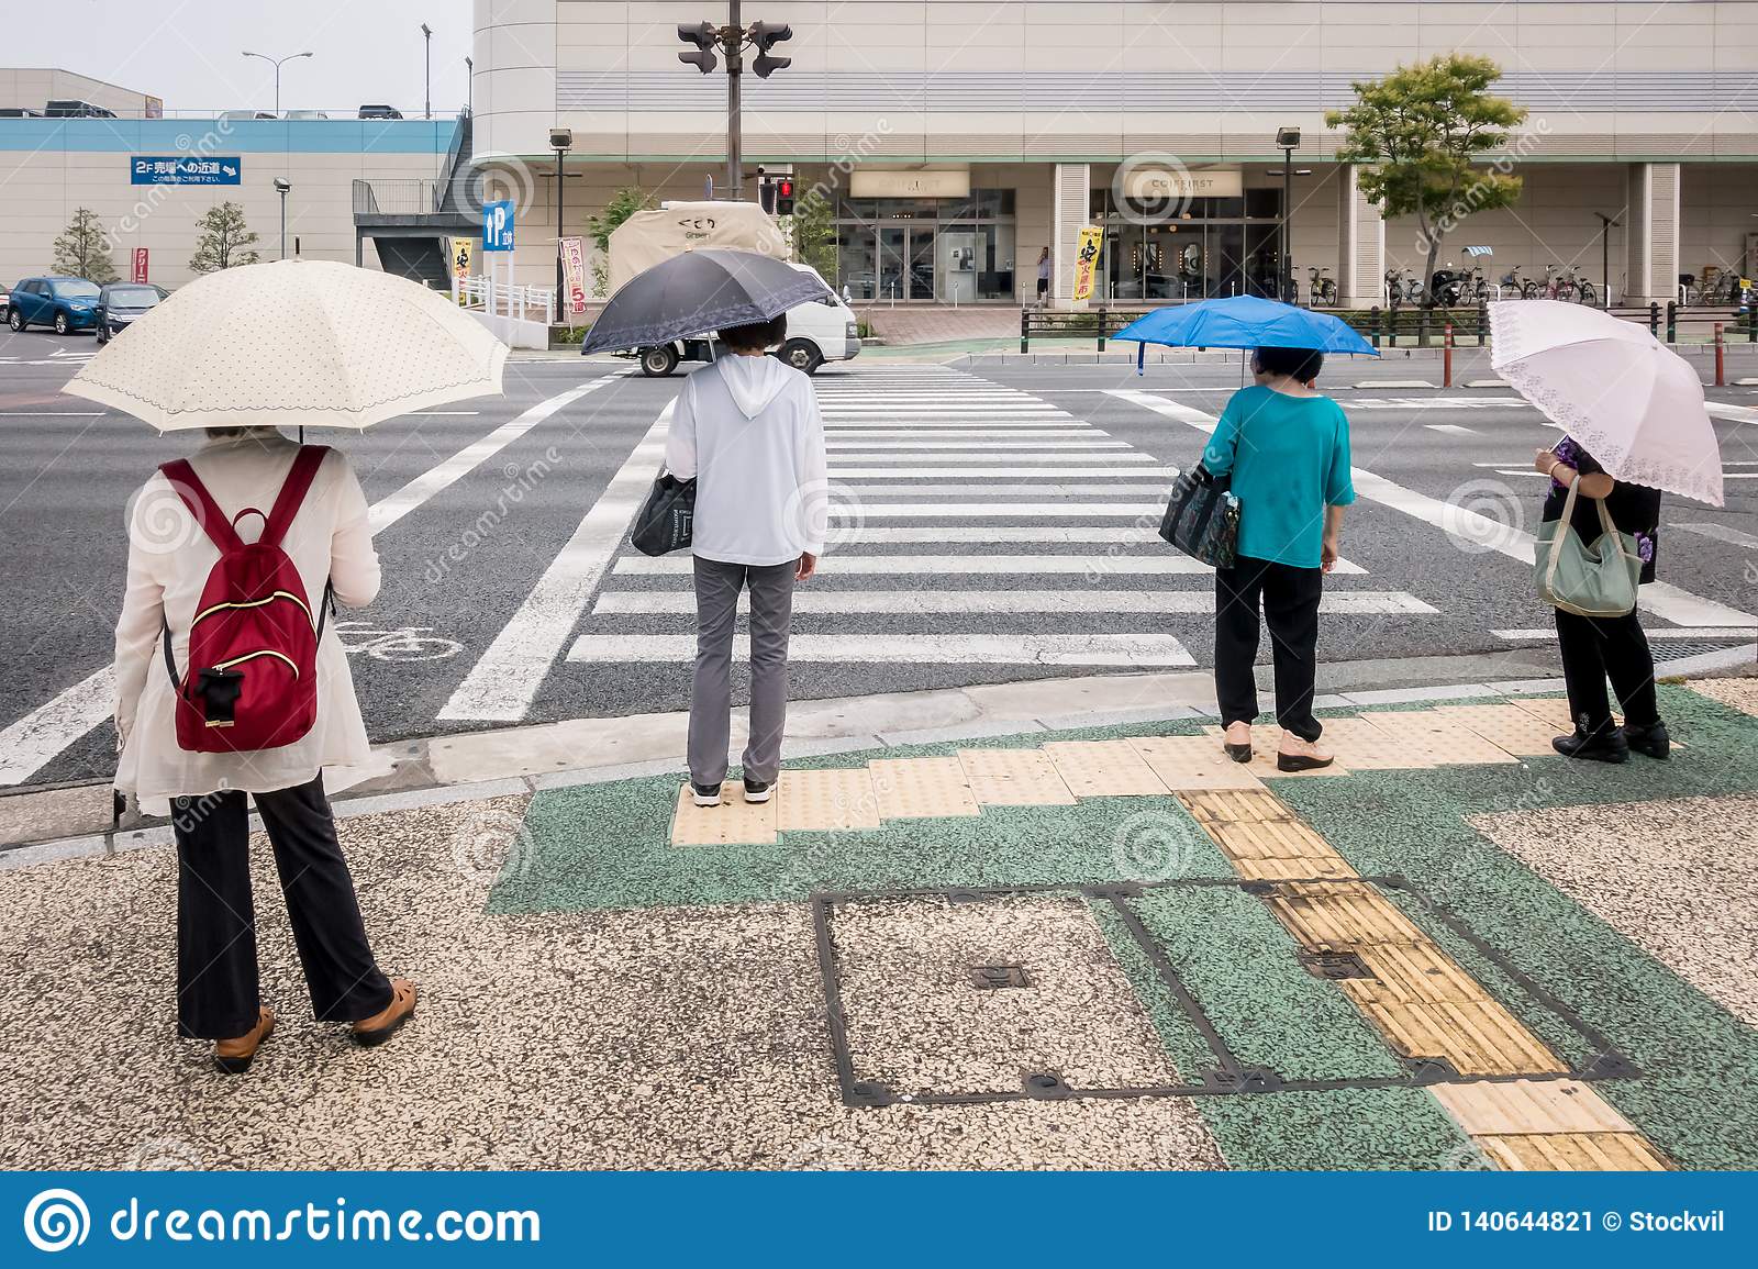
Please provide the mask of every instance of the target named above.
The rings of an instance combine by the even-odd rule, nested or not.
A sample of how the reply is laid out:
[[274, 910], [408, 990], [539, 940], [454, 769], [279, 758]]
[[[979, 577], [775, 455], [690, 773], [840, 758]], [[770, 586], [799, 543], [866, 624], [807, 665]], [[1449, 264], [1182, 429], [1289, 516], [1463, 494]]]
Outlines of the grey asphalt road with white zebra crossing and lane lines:
[[[104, 671], [123, 508], [155, 464], [192, 448], [62, 395], [91, 352], [88, 336], [0, 332], [0, 775], [12, 784], [113, 770]], [[1352, 568], [1327, 584], [1320, 656], [1529, 647], [1510, 633], [1547, 612], [1515, 555], [1544, 490], [1531, 453], [1556, 431], [1505, 388], [1347, 387], [1429, 378], [1433, 362], [1333, 369], [1371, 476], [1357, 478]], [[1204, 418], [1238, 381], [1231, 366], [826, 367], [842, 518], [802, 591], [795, 696], [1208, 664], [1211, 582], [1151, 526], [1167, 468], [1195, 460]], [[687, 561], [624, 543], [679, 383], [515, 360], [505, 399], [318, 438], [346, 448], [380, 524], [383, 592], [343, 613], [374, 740], [687, 705]], [[557, 404], [564, 394], [578, 395]], [[1758, 422], [1758, 394], [1711, 395]], [[1668, 499], [1672, 591], [1651, 596], [1647, 619], [1658, 642], [1758, 620], [1758, 425], [1718, 431], [1728, 506]], [[1475, 515], [1449, 520], [1449, 503]]]

